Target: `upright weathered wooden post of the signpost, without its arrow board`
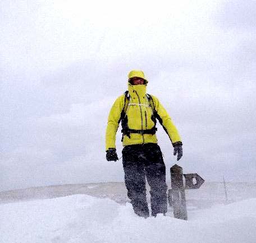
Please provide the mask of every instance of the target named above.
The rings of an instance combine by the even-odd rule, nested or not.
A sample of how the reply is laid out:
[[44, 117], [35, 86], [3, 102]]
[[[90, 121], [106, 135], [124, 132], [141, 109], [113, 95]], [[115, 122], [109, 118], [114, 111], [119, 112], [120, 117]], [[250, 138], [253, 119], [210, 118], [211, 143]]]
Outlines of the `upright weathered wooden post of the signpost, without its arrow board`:
[[175, 218], [188, 219], [188, 213], [186, 210], [186, 198], [185, 189], [183, 185], [182, 167], [179, 165], [173, 165], [171, 167], [171, 185], [170, 190], [172, 196], [173, 214]]

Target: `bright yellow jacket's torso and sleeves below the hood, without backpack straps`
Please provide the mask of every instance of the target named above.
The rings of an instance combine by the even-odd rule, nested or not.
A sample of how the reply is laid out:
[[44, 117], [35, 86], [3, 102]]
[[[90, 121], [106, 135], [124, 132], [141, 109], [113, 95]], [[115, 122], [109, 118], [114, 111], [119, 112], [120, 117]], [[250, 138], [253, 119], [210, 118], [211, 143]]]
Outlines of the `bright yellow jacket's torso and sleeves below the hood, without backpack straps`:
[[[146, 85], [131, 85], [128, 83], [130, 95], [129, 105], [126, 109], [127, 125], [129, 129], [145, 130], [152, 129], [155, 123], [152, 120], [153, 110], [150, 107], [148, 97], [146, 96]], [[172, 144], [181, 142], [180, 135], [172, 123], [166, 109], [163, 108], [156, 96], [151, 95], [154, 103], [154, 109], [157, 111], [157, 119], [163, 126], [171, 139]], [[108, 148], [116, 148], [116, 132], [121, 120], [121, 112], [124, 109], [125, 95], [119, 96], [114, 102], [108, 116], [106, 129], [106, 151]], [[157, 143], [156, 134], [130, 133], [130, 138], [124, 135], [123, 146], [131, 144]]]

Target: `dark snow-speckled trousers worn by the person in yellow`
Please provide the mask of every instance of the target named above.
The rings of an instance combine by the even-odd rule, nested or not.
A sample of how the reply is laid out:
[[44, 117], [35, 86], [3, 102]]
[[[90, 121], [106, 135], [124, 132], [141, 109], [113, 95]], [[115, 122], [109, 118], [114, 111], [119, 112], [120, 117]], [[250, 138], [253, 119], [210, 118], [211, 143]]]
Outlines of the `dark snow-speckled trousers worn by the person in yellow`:
[[167, 212], [166, 168], [158, 144], [146, 143], [125, 146], [122, 150], [127, 195], [134, 212], [148, 217], [145, 179], [150, 186], [152, 216]]

